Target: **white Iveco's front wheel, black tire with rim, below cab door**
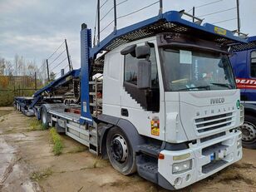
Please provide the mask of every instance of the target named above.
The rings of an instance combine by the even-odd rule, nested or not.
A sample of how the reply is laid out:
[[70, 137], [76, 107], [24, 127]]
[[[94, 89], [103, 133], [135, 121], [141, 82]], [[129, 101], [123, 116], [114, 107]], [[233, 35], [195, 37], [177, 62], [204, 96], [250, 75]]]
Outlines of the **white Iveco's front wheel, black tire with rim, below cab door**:
[[113, 127], [106, 135], [106, 151], [111, 165], [123, 175], [136, 171], [135, 154], [130, 140], [119, 128]]

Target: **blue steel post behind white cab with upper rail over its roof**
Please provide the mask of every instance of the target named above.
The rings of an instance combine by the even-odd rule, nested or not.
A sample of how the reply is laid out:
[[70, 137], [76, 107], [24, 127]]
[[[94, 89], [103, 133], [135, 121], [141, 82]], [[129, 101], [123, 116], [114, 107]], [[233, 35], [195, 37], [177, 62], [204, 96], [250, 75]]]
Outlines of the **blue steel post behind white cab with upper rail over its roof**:
[[[247, 40], [241, 37], [234, 36], [234, 33], [228, 30], [224, 30], [224, 35], [215, 32], [215, 27], [212, 24], [205, 23], [203, 26], [194, 22], [187, 21], [182, 17], [181, 12], [170, 11], [160, 14], [159, 16], [152, 17], [143, 22], [135, 23], [129, 27], [124, 27], [120, 30], [112, 32], [108, 37], [102, 40], [96, 47], [91, 47], [91, 29], [82, 27], [81, 29], [81, 124], [92, 123], [92, 116], [90, 112], [90, 101], [89, 101], [89, 74], [91, 68], [91, 61], [96, 58], [99, 52], [105, 51], [106, 47], [111, 45], [111, 42], [115, 41], [116, 38], [122, 37], [131, 32], [135, 32], [144, 27], [155, 24], [156, 22], [165, 21], [177, 23], [181, 26], [190, 27], [195, 30], [207, 32], [215, 37], [223, 37], [233, 42], [244, 42]], [[219, 27], [218, 27], [219, 29]], [[223, 29], [223, 28], [221, 28]]]

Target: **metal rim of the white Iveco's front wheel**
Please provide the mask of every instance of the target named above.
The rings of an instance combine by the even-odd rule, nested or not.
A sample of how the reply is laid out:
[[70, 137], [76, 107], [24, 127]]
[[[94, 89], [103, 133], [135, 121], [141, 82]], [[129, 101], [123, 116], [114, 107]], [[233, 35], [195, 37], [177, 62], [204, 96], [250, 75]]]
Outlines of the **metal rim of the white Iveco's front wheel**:
[[127, 142], [121, 135], [115, 135], [113, 140], [111, 140], [111, 155], [119, 163], [123, 163], [127, 160]]

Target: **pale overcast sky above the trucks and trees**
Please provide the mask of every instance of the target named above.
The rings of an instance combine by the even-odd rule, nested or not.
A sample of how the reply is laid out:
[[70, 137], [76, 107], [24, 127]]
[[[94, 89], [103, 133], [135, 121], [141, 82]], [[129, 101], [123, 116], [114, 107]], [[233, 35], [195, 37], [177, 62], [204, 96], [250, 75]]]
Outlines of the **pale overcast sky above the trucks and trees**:
[[[117, 0], [118, 16], [133, 12], [156, 0]], [[212, 12], [220, 12], [205, 16], [204, 22], [215, 23], [220, 27], [234, 30], [237, 27], [236, 0], [164, 0], [165, 11], [185, 9], [190, 11], [194, 6], [197, 16]], [[106, 0], [101, 0], [106, 2]], [[106, 2], [101, 9], [101, 17], [111, 8], [113, 0]], [[140, 2], [140, 3], [138, 3]], [[200, 7], [206, 3], [215, 2]], [[133, 22], [153, 17], [158, 13], [158, 5], [137, 12], [118, 21], [118, 27], [125, 27]], [[190, 12], [192, 13], [192, 12]], [[240, 0], [241, 31], [256, 35], [256, 1]], [[96, 0], [0, 0], [0, 57], [13, 60], [15, 54], [27, 60], [35, 60], [42, 65], [42, 60], [51, 56], [52, 52], [66, 38], [75, 68], [80, 67], [80, 30], [81, 23], [94, 28], [96, 17]], [[228, 22], [224, 20], [234, 19]], [[112, 12], [102, 20], [102, 28], [112, 20]], [[101, 28], [101, 29], [102, 29]], [[107, 27], [102, 36], [113, 30]], [[61, 51], [61, 50], [60, 50]], [[60, 58], [61, 59], [61, 58]], [[59, 69], [58, 69], [59, 70]]]

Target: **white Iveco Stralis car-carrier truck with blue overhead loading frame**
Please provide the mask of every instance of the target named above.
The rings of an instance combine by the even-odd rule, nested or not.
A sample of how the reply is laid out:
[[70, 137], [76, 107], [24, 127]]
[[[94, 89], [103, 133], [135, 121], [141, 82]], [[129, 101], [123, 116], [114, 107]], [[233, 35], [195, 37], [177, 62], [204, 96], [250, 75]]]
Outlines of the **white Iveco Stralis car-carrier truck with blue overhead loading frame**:
[[[246, 42], [184, 11], [116, 29], [92, 47], [81, 25], [80, 106], [34, 102], [37, 118], [168, 190], [242, 158], [229, 46]], [[96, 74], [101, 73], [101, 76]]]

